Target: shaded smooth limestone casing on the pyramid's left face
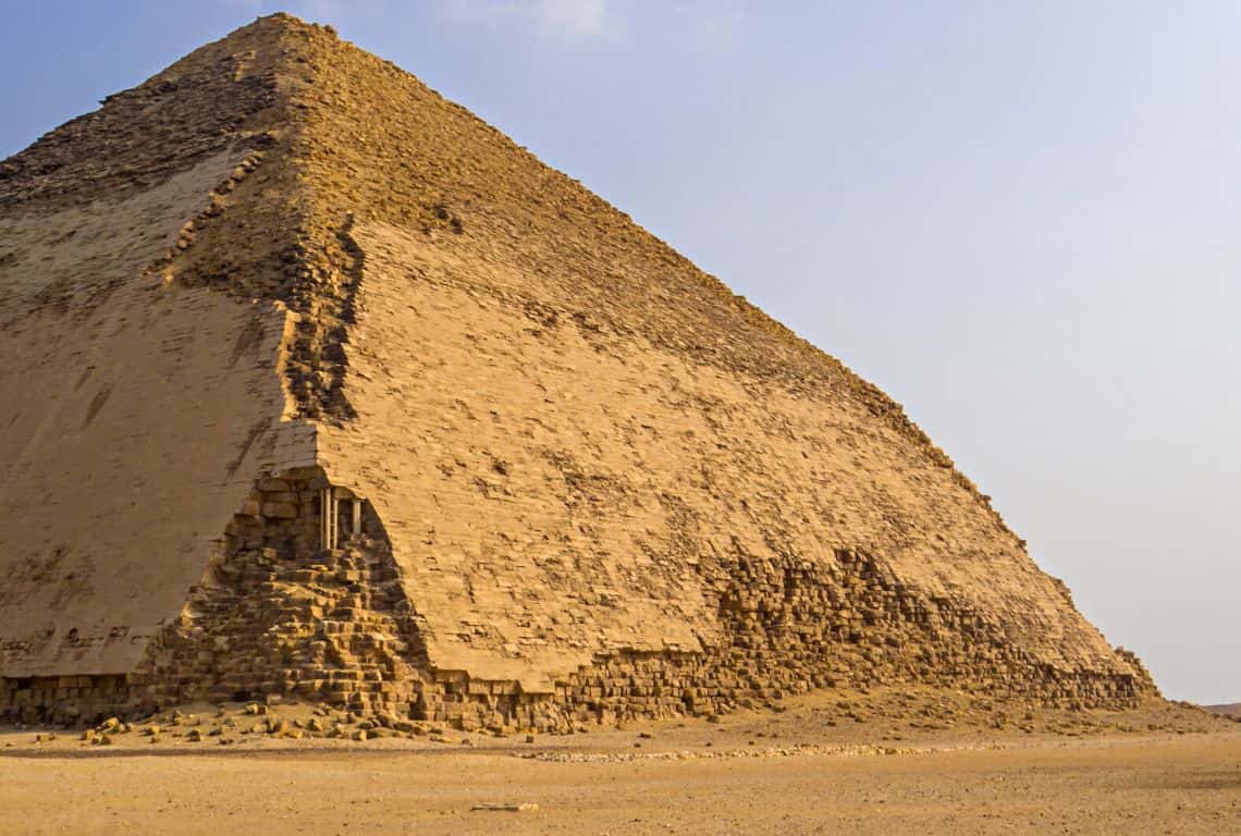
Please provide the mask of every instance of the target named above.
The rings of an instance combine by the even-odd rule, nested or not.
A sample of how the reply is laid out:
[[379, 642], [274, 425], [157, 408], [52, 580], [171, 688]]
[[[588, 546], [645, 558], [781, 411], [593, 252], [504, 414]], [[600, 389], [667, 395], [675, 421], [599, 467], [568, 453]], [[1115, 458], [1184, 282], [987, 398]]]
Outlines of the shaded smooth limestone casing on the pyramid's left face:
[[0, 221], [0, 670], [127, 674], [179, 614], [254, 480], [313, 463], [282, 423], [288, 314], [144, 268], [237, 165]]

